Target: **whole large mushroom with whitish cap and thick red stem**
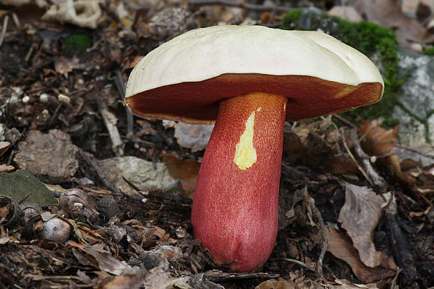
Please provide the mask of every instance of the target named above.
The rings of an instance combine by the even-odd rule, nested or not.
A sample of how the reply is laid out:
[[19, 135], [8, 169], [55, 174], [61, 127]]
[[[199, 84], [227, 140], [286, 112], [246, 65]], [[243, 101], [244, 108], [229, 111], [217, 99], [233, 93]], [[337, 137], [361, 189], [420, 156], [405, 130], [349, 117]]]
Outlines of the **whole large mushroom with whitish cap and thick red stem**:
[[250, 272], [277, 235], [285, 120], [379, 101], [370, 59], [315, 31], [218, 26], [188, 31], [133, 69], [125, 102], [134, 114], [211, 123], [191, 223], [214, 260]]

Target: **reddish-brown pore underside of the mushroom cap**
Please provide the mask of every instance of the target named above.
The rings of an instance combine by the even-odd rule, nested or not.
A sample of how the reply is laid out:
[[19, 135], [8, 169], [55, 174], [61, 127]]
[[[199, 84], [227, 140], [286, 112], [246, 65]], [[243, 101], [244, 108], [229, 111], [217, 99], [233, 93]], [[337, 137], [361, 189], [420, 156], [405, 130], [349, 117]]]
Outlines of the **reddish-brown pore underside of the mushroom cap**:
[[382, 89], [379, 82], [353, 86], [311, 76], [228, 73], [143, 91], [125, 101], [142, 117], [208, 124], [216, 119], [222, 98], [265, 92], [286, 96], [286, 120], [298, 121], [375, 103]]

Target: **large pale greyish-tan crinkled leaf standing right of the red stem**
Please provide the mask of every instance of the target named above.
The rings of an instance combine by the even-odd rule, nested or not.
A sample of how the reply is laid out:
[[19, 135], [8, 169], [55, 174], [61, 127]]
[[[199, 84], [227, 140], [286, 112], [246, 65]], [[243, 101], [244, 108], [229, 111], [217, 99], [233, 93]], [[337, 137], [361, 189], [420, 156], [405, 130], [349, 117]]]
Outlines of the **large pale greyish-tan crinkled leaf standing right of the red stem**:
[[391, 264], [388, 256], [375, 249], [373, 237], [381, 217], [381, 198], [365, 186], [345, 184], [345, 204], [337, 221], [353, 240], [360, 260], [367, 267], [377, 267], [384, 262]]

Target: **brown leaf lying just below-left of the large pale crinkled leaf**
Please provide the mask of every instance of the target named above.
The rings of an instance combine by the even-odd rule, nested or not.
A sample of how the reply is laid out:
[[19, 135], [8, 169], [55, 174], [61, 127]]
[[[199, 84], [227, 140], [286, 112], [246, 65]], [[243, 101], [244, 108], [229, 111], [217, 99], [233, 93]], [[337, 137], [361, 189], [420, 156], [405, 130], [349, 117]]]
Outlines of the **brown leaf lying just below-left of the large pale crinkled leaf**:
[[365, 266], [358, 258], [356, 249], [334, 228], [325, 228], [325, 233], [328, 242], [327, 251], [335, 255], [336, 258], [344, 260], [360, 281], [372, 283], [375, 280], [395, 275], [395, 269], [384, 267], [370, 268]]

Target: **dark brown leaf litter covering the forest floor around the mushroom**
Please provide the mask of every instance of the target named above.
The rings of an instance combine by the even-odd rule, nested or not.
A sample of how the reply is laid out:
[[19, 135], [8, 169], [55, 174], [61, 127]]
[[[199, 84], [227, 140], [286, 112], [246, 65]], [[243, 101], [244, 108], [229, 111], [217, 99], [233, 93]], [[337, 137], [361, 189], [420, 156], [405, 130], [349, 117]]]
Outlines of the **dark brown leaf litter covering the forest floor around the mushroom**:
[[[360, 130], [338, 128], [335, 117], [286, 124], [272, 256], [251, 274], [214, 264], [189, 221], [209, 126], [197, 132], [133, 118], [122, 98], [131, 68], [153, 48], [188, 29], [238, 24], [244, 16], [157, 2], [139, 9], [87, 3], [100, 15], [90, 22], [53, 17], [78, 27], [41, 21], [49, 3], [0, 13], [22, 20], [6, 27], [0, 47], [0, 182], [8, 195], [0, 202], [1, 286], [434, 286], [434, 149], [400, 146], [397, 128], [382, 128], [381, 120]], [[374, 6], [368, 3], [369, 17], [379, 13]], [[413, 29], [413, 41], [429, 39], [420, 26]], [[408, 39], [406, 33], [400, 35]], [[5, 178], [14, 175], [29, 184], [4, 193]]]

